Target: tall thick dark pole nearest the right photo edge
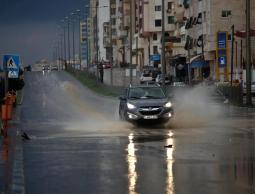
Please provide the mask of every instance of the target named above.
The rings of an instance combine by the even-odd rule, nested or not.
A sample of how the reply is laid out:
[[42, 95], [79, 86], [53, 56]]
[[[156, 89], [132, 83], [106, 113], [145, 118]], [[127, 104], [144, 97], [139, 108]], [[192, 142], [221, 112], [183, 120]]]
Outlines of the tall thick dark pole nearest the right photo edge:
[[250, 0], [246, 0], [246, 102], [248, 107], [252, 107], [251, 96], [251, 13]]

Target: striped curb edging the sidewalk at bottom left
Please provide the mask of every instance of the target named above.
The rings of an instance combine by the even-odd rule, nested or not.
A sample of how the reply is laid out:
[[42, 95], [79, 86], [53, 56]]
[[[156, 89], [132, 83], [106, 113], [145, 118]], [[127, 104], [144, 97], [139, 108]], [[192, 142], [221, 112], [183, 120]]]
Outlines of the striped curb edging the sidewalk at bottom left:
[[25, 194], [23, 142], [20, 130], [17, 130], [16, 133], [16, 146], [11, 176], [12, 184], [10, 194]]

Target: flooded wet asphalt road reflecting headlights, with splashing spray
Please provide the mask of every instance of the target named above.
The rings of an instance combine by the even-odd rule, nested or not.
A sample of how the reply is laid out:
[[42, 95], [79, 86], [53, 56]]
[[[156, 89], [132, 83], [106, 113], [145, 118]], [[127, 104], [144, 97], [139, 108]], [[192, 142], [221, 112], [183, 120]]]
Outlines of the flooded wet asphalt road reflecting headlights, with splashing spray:
[[137, 127], [65, 72], [27, 73], [27, 194], [254, 193], [255, 114], [204, 95], [180, 94], [165, 127]]

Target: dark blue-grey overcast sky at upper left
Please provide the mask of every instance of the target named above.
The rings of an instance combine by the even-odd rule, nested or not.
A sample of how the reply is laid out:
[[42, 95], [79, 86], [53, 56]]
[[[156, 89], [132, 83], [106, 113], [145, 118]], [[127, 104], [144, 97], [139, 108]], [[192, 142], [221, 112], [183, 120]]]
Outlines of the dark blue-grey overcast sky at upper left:
[[0, 0], [0, 56], [18, 54], [24, 65], [52, 60], [60, 20], [88, 0]]

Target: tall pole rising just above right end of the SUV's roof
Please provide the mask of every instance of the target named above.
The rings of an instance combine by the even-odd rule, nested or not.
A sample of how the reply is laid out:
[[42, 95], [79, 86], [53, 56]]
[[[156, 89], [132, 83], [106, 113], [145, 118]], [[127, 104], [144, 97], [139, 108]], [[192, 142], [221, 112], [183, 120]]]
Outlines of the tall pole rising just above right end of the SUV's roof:
[[166, 62], [165, 62], [165, 1], [162, 0], [162, 49], [161, 49], [161, 69], [162, 69], [162, 86], [166, 90], [165, 76], [166, 76]]

